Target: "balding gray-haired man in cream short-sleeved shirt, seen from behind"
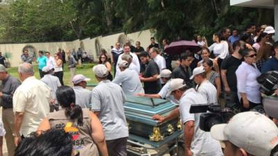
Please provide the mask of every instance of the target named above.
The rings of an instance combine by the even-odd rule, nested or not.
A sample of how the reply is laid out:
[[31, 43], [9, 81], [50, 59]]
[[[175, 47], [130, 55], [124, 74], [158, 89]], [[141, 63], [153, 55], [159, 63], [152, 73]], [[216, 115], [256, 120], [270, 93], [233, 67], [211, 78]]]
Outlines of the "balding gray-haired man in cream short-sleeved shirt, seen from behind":
[[51, 89], [35, 78], [32, 64], [20, 64], [18, 75], [22, 85], [17, 87], [13, 96], [15, 146], [22, 138], [38, 129], [42, 119], [49, 113], [51, 102]]

